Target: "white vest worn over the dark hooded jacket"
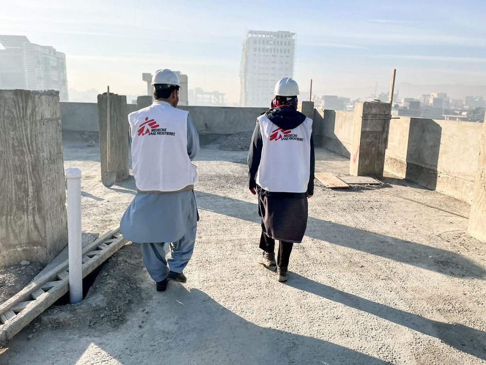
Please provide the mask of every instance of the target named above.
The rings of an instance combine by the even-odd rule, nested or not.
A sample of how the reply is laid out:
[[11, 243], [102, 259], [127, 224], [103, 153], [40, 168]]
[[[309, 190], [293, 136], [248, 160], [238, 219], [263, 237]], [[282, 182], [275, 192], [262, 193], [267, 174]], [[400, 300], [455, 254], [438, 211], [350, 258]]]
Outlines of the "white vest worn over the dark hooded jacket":
[[256, 183], [267, 191], [305, 193], [311, 173], [312, 119], [289, 130], [265, 115], [258, 120], [263, 148]]

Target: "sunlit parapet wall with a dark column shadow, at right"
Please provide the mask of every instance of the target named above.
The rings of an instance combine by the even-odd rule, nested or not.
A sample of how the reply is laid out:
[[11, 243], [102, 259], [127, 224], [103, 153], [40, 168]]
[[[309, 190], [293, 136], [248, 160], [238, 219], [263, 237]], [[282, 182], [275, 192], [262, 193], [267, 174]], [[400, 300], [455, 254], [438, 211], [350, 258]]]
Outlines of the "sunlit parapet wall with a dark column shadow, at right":
[[482, 127], [450, 120], [392, 119], [385, 171], [470, 203]]

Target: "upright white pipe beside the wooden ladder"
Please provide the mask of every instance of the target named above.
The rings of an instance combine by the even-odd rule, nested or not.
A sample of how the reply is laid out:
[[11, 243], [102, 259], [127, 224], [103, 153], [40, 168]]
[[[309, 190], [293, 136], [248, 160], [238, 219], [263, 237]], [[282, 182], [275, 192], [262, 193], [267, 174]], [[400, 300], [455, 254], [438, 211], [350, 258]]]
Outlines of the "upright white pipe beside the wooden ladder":
[[81, 244], [81, 170], [69, 168], [68, 179], [68, 251], [69, 303], [83, 299], [83, 262]]

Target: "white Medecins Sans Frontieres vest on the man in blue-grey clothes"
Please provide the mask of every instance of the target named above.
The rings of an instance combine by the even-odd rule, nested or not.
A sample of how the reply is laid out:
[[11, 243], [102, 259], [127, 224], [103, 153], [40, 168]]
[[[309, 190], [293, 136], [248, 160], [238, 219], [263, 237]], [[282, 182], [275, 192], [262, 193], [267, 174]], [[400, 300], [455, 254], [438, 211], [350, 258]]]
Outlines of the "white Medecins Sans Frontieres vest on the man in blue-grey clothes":
[[188, 114], [163, 101], [128, 114], [139, 190], [177, 191], [195, 183], [197, 167], [187, 153]]

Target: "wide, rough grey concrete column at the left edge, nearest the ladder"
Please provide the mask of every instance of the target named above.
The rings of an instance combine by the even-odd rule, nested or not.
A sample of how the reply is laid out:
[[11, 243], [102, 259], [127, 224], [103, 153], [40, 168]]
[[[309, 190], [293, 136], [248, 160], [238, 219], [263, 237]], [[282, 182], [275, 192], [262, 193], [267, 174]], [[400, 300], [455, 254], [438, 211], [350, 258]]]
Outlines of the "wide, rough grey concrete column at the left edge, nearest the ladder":
[[58, 91], [0, 90], [0, 266], [68, 243]]

